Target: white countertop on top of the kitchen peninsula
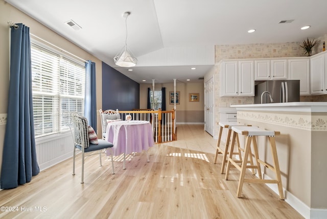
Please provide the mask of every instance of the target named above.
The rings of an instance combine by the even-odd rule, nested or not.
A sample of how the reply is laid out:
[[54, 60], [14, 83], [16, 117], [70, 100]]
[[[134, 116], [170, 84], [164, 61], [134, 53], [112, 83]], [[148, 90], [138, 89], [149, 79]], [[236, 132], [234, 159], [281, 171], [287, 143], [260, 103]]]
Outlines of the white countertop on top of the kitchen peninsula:
[[327, 102], [290, 102], [270, 104], [231, 105], [237, 110], [262, 111], [296, 111], [296, 112], [327, 112]]

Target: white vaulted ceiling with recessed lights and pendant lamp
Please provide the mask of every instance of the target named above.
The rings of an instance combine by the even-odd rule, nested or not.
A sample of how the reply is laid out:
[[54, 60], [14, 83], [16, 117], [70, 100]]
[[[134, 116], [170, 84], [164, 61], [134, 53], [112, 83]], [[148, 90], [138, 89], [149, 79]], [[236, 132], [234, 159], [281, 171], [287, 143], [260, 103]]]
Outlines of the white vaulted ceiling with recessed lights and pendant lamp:
[[[198, 82], [215, 64], [214, 45], [301, 42], [327, 33], [327, 0], [5, 1], [139, 83]], [[113, 62], [125, 45], [126, 11], [127, 46], [139, 60], [133, 71]], [[71, 19], [82, 29], [66, 25]], [[301, 31], [305, 25], [311, 28]]]

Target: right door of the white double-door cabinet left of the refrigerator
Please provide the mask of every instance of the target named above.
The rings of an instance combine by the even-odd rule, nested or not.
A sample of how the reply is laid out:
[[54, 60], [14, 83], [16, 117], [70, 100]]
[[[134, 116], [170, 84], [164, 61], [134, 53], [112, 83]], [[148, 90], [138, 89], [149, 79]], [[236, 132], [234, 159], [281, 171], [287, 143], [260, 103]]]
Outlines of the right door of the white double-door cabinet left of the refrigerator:
[[253, 61], [239, 61], [239, 95], [254, 96]]

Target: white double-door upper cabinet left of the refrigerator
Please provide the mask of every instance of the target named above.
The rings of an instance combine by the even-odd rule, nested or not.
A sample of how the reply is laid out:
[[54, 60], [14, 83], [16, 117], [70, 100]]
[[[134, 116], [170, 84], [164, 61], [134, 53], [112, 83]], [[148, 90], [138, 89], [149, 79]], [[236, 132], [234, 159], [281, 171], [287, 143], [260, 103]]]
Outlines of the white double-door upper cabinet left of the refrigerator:
[[220, 96], [254, 96], [253, 61], [223, 61], [220, 69]]

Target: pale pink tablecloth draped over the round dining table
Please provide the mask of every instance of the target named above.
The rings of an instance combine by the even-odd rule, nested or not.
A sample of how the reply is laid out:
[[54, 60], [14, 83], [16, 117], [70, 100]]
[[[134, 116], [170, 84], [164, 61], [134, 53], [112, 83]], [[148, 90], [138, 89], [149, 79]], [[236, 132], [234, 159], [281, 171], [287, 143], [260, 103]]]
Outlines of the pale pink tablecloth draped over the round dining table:
[[113, 143], [113, 155], [148, 150], [154, 145], [149, 121], [113, 121], [108, 123], [106, 140]]

